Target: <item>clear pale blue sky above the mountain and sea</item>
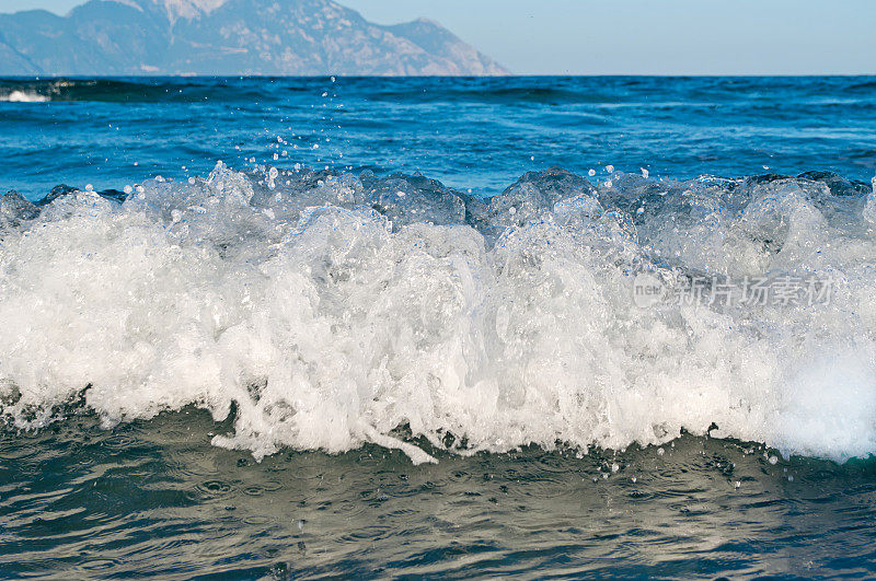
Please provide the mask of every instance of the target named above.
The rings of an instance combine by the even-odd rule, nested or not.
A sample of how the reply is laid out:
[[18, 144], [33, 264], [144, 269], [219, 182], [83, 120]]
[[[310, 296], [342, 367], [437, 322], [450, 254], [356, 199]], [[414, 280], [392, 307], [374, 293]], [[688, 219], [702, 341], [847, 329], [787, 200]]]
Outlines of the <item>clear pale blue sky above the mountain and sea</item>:
[[519, 74], [876, 73], [876, 0], [338, 1], [383, 24], [436, 20]]

